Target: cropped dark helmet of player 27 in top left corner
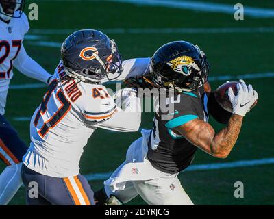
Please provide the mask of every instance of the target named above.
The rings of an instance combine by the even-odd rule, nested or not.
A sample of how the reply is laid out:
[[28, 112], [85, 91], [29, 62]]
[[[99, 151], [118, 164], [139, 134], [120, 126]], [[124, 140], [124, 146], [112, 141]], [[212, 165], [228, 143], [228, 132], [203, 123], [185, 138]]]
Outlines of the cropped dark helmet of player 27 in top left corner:
[[4, 21], [21, 18], [24, 8], [25, 0], [0, 0], [0, 18]]

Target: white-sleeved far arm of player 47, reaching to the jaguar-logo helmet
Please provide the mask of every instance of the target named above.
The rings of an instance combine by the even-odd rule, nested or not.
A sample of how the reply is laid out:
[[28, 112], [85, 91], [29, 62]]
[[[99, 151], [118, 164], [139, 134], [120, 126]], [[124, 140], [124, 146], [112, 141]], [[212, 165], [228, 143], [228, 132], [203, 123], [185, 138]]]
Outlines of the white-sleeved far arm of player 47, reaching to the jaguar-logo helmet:
[[[150, 60], [150, 57], [146, 57], [123, 61], [121, 75], [112, 81], [123, 81], [129, 77], [140, 77], [144, 75], [149, 70]], [[109, 81], [108, 79], [104, 79], [102, 82], [108, 83]]]

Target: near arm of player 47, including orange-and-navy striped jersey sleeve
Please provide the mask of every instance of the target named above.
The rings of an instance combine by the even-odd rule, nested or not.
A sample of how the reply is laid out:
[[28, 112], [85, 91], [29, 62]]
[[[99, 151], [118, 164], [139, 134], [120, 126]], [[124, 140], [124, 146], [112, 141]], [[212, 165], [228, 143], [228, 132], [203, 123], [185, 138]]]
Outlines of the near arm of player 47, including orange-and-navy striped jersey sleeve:
[[[137, 96], [127, 96], [125, 110], [116, 105], [104, 86], [98, 86], [107, 98], [86, 96], [82, 108], [83, 122], [87, 127], [99, 127], [112, 131], [138, 131], [141, 121], [141, 105]], [[122, 106], [121, 106], [122, 107]]]

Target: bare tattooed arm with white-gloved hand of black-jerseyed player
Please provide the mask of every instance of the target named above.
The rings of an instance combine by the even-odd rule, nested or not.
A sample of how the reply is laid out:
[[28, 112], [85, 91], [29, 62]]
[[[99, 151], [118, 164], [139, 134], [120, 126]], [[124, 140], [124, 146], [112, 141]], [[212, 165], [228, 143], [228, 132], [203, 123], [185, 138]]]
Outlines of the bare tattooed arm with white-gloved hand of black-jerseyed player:
[[210, 155], [219, 158], [227, 157], [238, 139], [243, 117], [258, 99], [258, 94], [251, 85], [247, 87], [244, 81], [240, 82], [236, 96], [232, 89], [229, 89], [233, 115], [229, 119], [227, 127], [219, 131], [219, 133], [215, 133], [210, 124], [203, 120], [195, 119], [180, 127], [175, 127], [175, 131]]

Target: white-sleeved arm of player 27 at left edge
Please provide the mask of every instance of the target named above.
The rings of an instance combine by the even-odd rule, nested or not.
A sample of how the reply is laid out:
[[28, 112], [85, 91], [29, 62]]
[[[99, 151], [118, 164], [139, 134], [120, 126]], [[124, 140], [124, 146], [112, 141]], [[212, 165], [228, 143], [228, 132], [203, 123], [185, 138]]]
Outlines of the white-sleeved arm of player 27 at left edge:
[[27, 77], [31, 77], [44, 83], [47, 83], [49, 77], [52, 76], [31, 57], [29, 57], [29, 55], [27, 55], [23, 44], [16, 60], [14, 60], [14, 67]]

